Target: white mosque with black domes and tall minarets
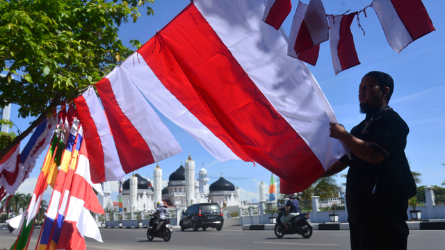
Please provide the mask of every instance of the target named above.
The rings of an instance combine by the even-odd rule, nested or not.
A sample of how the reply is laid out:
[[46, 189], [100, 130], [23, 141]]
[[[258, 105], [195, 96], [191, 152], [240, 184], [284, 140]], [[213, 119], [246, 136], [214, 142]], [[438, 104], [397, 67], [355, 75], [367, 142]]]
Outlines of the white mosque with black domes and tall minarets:
[[[153, 183], [139, 174], [133, 174], [122, 183], [122, 203], [127, 212], [147, 211], [156, 208], [163, 201], [168, 208], [190, 206], [194, 203], [216, 202], [223, 207], [241, 205], [240, 190], [221, 174], [218, 181], [208, 184], [207, 170], [202, 167], [195, 180], [195, 161], [188, 156], [186, 163], [168, 177], [168, 185], [162, 188], [162, 169], [157, 165], [153, 172]], [[112, 201], [110, 183], [104, 183], [104, 195], [99, 194], [102, 208], [118, 210], [119, 202]], [[224, 204], [225, 203], [225, 204]]]

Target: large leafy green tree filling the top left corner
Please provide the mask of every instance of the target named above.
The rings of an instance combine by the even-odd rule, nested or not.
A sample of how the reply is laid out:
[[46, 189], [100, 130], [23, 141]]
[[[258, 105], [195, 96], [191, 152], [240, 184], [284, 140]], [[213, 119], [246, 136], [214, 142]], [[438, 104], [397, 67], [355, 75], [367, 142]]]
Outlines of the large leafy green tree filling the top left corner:
[[[19, 116], [37, 117], [0, 148], [0, 158], [33, 128], [97, 83], [133, 51], [118, 27], [154, 0], [0, 0], [0, 107], [20, 106]], [[147, 15], [153, 10], [147, 7]], [[137, 40], [130, 41], [140, 47]]]

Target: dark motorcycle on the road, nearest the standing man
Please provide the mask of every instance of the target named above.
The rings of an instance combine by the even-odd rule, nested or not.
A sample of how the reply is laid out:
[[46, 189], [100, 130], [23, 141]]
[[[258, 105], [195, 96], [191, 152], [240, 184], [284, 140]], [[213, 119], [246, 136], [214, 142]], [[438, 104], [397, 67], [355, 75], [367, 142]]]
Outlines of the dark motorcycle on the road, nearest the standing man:
[[312, 228], [314, 228], [314, 224], [312, 224], [311, 220], [309, 219], [309, 212], [300, 213], [300, 215], [292, 217], [290, 220], [291, 224], [288, 224], [289, 228], [291, 229], [289, 231], [284, 231], [286, 228], [281, 222], [281, 217], [286, 216], [286, 208], [280, 208], [279, 210], [280, 213], [278, 213], [277, 223], [275, 224], [274, 230], [277, 238], [283, 238], [285, 234], [295, 233], [302, 235], [302, 237], [305, 239], [309, 239], [312, 236]]

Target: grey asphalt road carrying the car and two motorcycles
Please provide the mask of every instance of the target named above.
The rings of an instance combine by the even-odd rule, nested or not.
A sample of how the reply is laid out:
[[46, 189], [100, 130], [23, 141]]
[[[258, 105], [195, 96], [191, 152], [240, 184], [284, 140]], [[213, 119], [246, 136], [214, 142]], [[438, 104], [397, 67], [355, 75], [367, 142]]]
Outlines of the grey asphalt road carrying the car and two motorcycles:
[[[29, 249], [34, 250], [40, 229], [36, 229]], [[149, 242], [146, 229], [103, 228], [101, 229], [104, 243], [86, 239], [90, 250], [147, 250], [147, 249], [350, 249], [349, 231], [314, 231], [309, 239], [300, 235], [285, 235], [278, 239], [273, 231], [242, 231], [241, 226], [229, 226], [222, 231], [209, 228], [207, 231], [181, 232], [175, 229], [170, 242], [154, 238]], [[445, 246], [444, 231], [416, 230], [410, 232], [408, 249], [442, 250]], [[15, 241], [15, 235], [7, 230], [0, 230], [0, 249], [9, 249]]]

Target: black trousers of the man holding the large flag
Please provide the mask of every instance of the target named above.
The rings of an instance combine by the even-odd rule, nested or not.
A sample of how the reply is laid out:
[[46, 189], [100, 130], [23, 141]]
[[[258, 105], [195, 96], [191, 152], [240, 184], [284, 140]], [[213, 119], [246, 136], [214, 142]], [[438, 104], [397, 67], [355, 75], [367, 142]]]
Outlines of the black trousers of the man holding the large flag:
[[405, 215], [372, 213], [349, 224], [352, 250], [406, 250], [410, 231]]

